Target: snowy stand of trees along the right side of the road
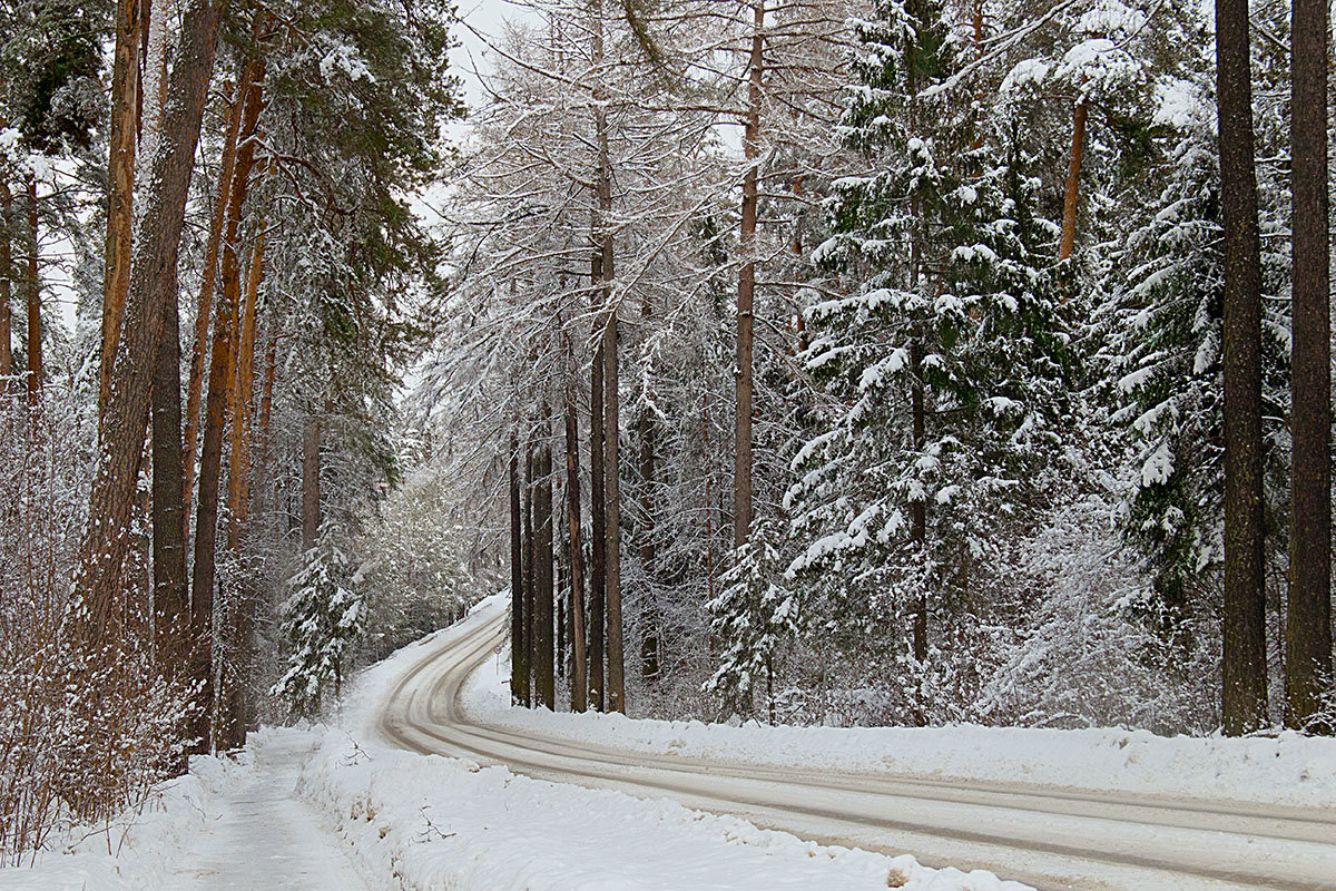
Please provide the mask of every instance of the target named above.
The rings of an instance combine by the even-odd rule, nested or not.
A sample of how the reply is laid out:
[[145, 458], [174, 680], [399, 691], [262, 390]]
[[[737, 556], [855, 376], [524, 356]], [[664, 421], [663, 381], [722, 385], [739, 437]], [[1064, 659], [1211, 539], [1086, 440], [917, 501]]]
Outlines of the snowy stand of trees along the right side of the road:
[[1300, 5], [530, 4], [424, 385], [516, 699], [1329, 727]]

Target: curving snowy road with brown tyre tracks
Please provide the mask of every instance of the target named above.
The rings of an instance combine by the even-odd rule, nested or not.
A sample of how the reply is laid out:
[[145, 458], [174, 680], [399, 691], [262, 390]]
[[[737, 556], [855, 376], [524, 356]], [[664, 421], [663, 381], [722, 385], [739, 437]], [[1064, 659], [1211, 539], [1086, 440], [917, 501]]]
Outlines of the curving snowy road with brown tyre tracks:
[[1041, 891], [1336, 891], [1336, 810], [756, 767], [481, 723], [464, 711], [460, 688], [505, 641], [505, 618], [473, 616], [429, 647], [390, 687], [381, 732], [424, 753], [667, 796], [816, 842], [990, 870]]

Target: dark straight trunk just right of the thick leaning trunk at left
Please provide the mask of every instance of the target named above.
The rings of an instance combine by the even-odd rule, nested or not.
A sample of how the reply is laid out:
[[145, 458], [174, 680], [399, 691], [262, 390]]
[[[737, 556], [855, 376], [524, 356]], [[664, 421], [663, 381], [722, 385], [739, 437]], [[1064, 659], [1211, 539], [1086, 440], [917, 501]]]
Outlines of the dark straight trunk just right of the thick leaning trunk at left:
[[186, 541], [180, 512], [180, 330], [167, 301], [152, 394], [154, 652], [159, 672], [179, 676], [188, 640]]

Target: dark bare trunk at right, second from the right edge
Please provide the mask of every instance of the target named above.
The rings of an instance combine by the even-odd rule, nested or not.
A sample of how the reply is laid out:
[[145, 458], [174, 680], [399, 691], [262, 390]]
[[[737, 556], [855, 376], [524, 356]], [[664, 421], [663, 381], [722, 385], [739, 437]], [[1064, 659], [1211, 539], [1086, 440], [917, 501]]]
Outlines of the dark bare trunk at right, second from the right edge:
[[1253, 155], [1248, 0], [1216, 0], [1220, 191], [1225, 235], [1225, 733], [1267, 715], [1263, 526], [1261, 256]]

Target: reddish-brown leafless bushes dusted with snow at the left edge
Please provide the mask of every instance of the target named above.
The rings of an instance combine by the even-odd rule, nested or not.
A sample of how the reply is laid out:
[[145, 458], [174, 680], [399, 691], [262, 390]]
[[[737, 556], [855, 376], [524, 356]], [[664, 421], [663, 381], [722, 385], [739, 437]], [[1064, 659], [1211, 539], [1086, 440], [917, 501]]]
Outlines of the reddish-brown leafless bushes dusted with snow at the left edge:
[[0, 864], [111, 820], [184, 761], [188, 691], [154, 667], [142, 529], [122, 596], [130, 647], [104, 660], [73, 635], [92, 430], [63, 397], [0, 401]]

